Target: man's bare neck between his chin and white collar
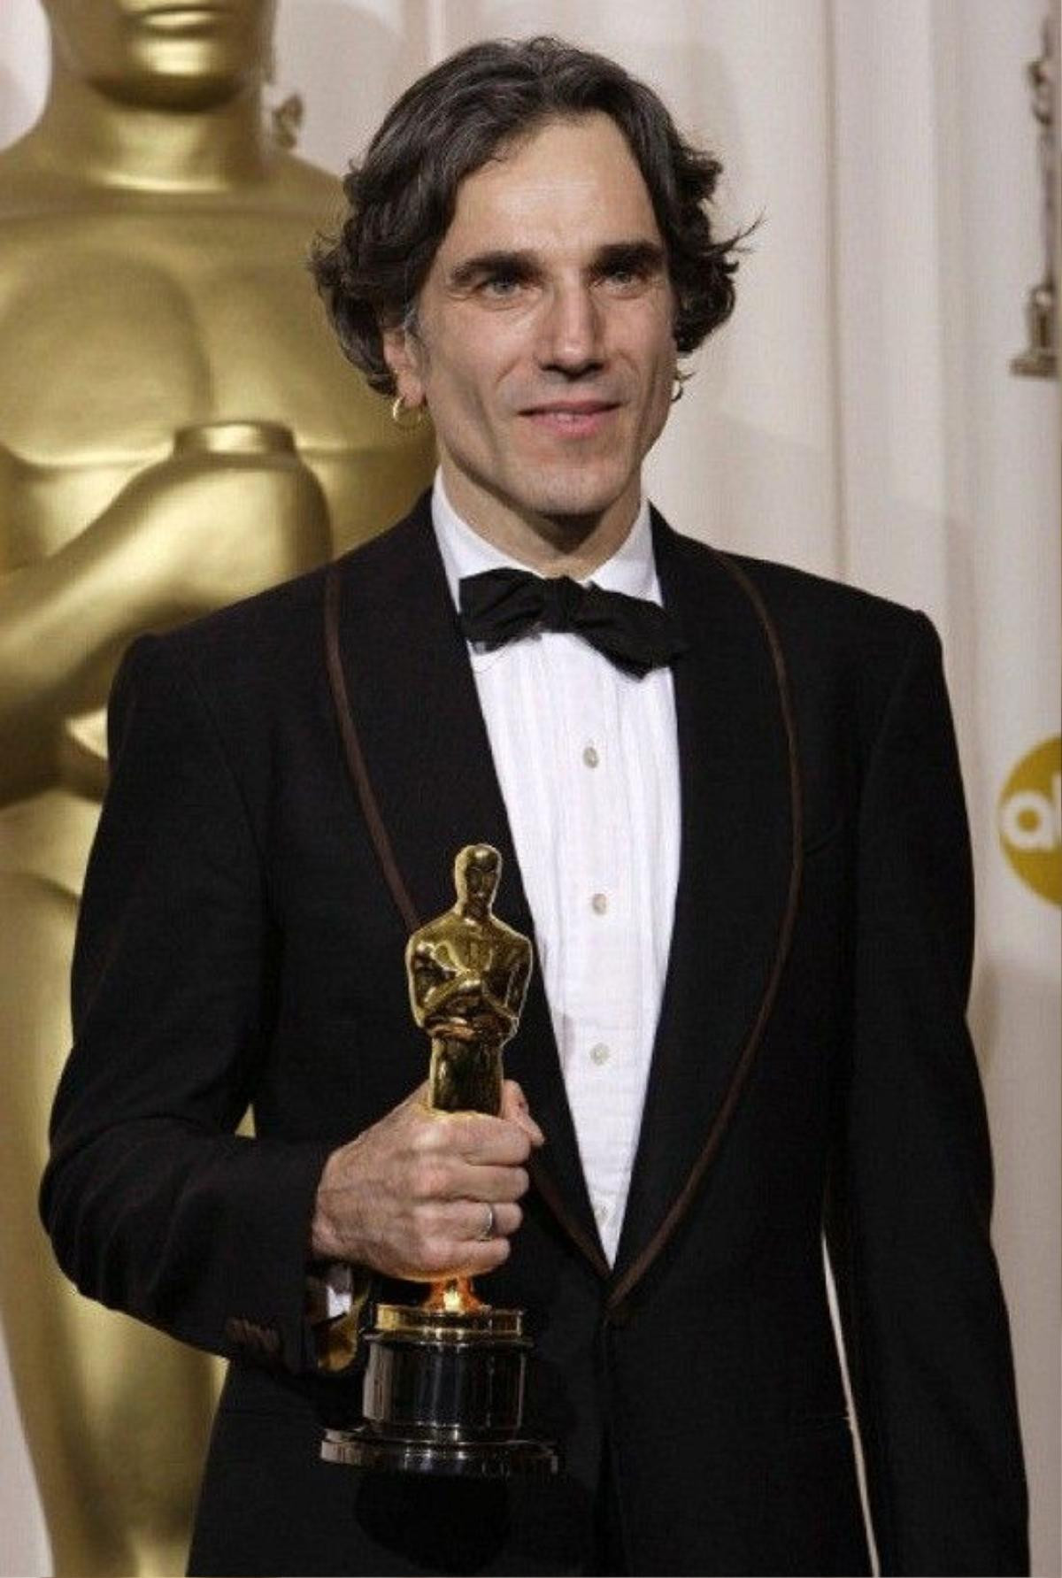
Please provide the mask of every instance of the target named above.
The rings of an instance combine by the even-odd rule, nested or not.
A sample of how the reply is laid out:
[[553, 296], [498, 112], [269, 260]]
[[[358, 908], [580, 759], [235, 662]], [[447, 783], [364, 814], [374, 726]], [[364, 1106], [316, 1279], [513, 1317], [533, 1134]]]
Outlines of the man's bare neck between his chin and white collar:
[[540, 576], [585, 581], [626, 541], [642, 499], [641, 477], [608, 508], [589, 514], [538, 514], [477, 488], [442, 462], [450, 503], [462, 521], [499, 552]]

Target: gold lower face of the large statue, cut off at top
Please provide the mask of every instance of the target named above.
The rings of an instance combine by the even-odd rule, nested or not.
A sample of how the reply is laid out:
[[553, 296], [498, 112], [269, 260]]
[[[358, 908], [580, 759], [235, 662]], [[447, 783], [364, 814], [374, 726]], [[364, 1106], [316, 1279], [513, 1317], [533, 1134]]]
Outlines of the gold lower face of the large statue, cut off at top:
[[55, 50], [109, 98], [196, 107], [260, 79], [276, 0], [44, 0]]

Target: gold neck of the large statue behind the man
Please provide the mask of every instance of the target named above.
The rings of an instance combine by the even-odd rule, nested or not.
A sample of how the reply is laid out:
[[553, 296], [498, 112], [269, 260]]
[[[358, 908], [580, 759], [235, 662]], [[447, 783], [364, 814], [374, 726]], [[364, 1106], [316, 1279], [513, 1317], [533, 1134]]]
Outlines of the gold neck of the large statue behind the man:
[[122, 103], [54, 60], [52, 92], [27, 144], [52, 169], [95, 185], [219, 191], [267, 172], [260, 98], [252, 80], [207, 107]]

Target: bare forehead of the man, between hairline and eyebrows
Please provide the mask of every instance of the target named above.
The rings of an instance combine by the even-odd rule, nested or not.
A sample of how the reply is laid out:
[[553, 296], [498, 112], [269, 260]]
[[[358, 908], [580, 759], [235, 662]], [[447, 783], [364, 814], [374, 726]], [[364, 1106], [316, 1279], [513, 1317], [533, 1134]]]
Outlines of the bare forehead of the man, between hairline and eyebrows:
[[458, 188], [443, 264], [477, 251], [593, 251], [660, 243], [649, 188], [620, 128], [593, 112], [551, 120], [502, 147]]

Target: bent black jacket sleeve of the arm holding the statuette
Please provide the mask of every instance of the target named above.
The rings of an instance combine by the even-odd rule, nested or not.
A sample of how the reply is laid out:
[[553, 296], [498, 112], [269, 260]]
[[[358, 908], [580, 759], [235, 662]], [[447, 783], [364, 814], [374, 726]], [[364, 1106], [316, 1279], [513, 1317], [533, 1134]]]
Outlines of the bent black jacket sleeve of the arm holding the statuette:
[[238, 783], [174, 645], [136, 642], [112, 691], [41, 1213], [88, 1297], [298, 1371], [314, 1363], [305, 1272], [328, 1146], [234, 1133], [268, 1046], [278, 939]]

